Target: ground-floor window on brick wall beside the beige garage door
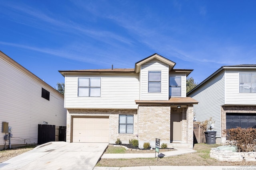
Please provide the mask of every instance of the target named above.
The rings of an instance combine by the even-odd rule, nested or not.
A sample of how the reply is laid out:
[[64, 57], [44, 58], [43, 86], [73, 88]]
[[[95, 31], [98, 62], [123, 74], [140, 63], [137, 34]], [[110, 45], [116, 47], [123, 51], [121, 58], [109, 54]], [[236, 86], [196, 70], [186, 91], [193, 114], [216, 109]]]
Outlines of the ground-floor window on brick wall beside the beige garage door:
[[133, 133], [133, 115], [119, 115], [119, 133]]

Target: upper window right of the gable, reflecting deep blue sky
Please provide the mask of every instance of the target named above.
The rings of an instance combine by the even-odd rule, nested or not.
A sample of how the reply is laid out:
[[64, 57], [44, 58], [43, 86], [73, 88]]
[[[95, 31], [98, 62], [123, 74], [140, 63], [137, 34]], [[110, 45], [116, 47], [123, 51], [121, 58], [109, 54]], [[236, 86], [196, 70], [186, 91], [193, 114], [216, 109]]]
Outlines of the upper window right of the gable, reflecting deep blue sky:
[[170, 76], [169, 83], [169, 97], [181, 96], [181, 76]]

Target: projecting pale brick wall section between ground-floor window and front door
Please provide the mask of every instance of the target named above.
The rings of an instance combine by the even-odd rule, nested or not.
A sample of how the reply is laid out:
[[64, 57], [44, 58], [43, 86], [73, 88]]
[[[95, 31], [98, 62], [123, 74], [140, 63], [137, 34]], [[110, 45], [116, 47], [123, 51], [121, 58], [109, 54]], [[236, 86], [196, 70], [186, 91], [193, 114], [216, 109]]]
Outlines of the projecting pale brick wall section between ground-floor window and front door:
[[155, 147], [156, 138], [160, 143], [170, 143], [170, 106], [139, 105], [138, 139], [139, 147], [145, 142]]

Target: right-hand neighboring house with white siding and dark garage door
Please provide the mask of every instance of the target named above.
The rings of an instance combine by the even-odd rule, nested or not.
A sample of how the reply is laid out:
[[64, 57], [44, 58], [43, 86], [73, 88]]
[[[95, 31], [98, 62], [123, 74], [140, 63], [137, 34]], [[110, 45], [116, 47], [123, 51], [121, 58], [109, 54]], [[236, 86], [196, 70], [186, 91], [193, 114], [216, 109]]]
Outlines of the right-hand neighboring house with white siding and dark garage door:
[[222, 66], [187, 96], [198, 101], [196, 120], [212, 117], [216, 140], [224, 142], [224, 129], [256, 125], [256, 64]]

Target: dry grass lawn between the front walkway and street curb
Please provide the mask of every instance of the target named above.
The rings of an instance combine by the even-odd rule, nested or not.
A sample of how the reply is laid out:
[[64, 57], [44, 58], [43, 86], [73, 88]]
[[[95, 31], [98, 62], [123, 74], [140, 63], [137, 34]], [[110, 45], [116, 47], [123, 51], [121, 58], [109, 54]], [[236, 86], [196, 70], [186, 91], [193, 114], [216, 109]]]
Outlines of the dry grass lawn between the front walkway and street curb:
[[127, 167], [127, 166], [239, 166], [256, 165], [256, 162], [221, 162], [210, 158], [210, 149], [220, 145], [196, 144], [195, 153], [166, 158], [134, 158], [134, 159], [101, 159], [96, 166]]

